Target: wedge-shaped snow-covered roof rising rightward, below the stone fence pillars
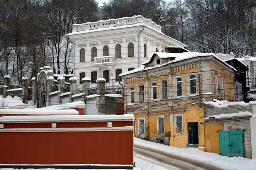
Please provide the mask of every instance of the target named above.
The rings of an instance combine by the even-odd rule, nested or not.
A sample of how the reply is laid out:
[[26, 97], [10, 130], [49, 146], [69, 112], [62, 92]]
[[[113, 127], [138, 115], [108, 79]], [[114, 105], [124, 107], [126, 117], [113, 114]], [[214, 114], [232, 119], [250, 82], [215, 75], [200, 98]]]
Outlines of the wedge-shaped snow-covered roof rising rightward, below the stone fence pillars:
[[85, 103], [84, 102], [72, 102], [72, 103], [65, 103], [62, 105], [52, 105], [49, 107], [45, 108], [38, 108], [39, 110], [51, 110], [51, 109], [57, 109], [57, 110], [62, 110], [62, 109], [72, 109], [72, 108], [84, 108]]

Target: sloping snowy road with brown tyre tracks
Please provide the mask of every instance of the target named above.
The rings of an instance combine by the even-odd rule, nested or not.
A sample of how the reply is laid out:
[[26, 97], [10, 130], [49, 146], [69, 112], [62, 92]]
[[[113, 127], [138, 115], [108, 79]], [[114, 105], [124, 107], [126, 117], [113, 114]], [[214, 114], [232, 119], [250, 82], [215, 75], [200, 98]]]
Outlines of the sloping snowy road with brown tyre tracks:
[[204, 166], [204, 164], [180, 160], [178, 156], [139, 145], [134, 145], [134, 157], [151, 162], [154, 165], [161, 166], [168, 170], [216, 170], [214, 166]]

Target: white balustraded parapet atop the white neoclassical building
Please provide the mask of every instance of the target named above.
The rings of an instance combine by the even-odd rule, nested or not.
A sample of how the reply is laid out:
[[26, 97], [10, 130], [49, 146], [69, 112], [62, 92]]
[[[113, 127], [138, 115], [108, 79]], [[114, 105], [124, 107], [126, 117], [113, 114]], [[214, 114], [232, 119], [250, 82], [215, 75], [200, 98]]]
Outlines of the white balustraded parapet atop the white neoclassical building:
[[145, 26], [151, 27], [157, 31], [161, 31], [161, 26], [154, 23], [151, 19], [146, 19], [141, 15], [135, 15], [133, 17], [122, 17], [118, 19], [109, 19], [109, 20], [100, 20], [93, 23], [82, 23], [82, 24], [73, 24], [72, 32], [93, 30], [98, 28], [110, 28], [118, 26], [128, 26], [133, 24], [143, 24]]

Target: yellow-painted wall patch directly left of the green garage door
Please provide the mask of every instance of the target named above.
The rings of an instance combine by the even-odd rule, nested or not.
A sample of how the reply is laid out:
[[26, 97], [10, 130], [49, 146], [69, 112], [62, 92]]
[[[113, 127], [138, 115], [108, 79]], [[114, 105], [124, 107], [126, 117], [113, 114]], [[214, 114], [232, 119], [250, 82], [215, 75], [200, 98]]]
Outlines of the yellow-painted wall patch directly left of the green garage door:
[[218, 130], [224, 127], [217, 123], [205, 123], [205, 148], [207, 152], [220, 154], [220, 142]]

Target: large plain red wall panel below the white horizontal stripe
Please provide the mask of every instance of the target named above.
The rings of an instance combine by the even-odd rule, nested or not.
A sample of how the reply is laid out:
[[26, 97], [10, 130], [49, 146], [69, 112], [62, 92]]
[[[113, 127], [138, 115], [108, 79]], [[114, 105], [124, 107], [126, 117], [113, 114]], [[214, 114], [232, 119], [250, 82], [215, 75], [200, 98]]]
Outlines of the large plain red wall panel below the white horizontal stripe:
[[1, 164], [133, 164], [133, 131], [2, 132]]

